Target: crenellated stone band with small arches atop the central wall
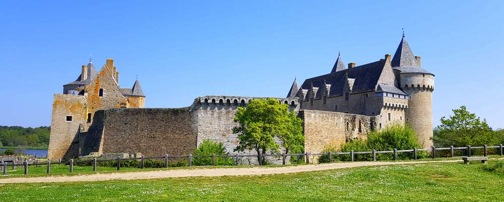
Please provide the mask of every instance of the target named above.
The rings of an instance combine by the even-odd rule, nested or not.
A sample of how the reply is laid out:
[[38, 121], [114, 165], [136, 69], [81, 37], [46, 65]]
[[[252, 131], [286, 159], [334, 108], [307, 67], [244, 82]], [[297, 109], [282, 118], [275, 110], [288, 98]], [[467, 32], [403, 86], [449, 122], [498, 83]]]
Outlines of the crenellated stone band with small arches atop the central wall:
[[[196, 103], [201, 104], [220, 104], [220, 105], [240, 105], [245, 106], [248, 102], [255, 99], [267, 99], [268, 97], [241, 97], [241, 96], [203, 96], [196, 98]], [[299, 105], [298, 99], [295, 98], [274, 98], [280, 103], [287, 104], [290, 106]]]

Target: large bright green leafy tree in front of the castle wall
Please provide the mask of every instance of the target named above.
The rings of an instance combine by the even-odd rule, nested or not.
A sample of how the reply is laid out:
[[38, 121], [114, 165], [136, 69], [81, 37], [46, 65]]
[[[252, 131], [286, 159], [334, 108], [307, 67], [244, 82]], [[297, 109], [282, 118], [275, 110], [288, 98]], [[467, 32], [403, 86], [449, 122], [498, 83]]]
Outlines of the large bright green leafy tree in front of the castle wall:
[[[304, 138], [300, 137], [301, 121], [293, 112], [289, 113], [288, 105], [280, 104], [278, 100], [251, 100], [246, 108], [238, 107], [234, 117], [234, 122], [239, 124], [233, 128], [239, 140], [235, 151], [255, 150], [263, 155], [267, 151], [277, 153], [280, 144], [275, 138], [282, 142], [286, 152], [299, 151], [304, 144]], [[258, 161], [264, 162], [264, 157], [258, 157]]]

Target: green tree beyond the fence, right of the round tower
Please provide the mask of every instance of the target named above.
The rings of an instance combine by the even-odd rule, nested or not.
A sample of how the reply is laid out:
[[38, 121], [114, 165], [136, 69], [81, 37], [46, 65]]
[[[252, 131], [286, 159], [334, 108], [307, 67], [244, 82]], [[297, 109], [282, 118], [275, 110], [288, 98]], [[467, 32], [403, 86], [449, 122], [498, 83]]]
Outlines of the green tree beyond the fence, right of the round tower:
[[474, 113], [467, 111], [466, 106], [452, 110], [454, 115], [442, 117], [439, 133], [433, 141], [436, 145], [464, 147], [467, 145], [482, 146], [495, 142], [492, 131], [486, 120], [480, 120]]

